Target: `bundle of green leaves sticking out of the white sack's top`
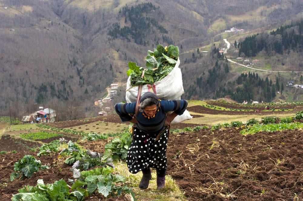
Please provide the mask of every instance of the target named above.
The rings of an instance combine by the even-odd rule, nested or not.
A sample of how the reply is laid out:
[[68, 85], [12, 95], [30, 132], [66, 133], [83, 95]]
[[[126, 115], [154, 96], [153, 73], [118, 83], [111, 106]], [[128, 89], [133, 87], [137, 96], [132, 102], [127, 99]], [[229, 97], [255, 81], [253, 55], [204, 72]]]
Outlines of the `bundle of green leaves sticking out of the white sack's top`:
[[[175, 67], [179, 58], [179, 47], [169, 45], [163, 47], [158, 44], [154, 52], [148, 50], [146, 56], [146, 69], [134, 62], [129, 62], [127, 75], [130, 76], [132, 86], [152, 84], [165, 78]], [[144, 76], [142, 72], [144, 70]]]

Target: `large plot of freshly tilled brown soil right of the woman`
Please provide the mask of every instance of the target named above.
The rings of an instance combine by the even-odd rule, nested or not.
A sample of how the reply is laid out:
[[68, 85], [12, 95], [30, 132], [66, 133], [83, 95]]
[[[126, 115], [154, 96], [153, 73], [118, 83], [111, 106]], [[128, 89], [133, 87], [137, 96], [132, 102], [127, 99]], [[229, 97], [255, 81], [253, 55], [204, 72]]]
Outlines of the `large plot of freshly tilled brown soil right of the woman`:
[[302, 137], [302, 130], [179, 133], [170, 136], [168, 174], [189, 200], [302, 199]]

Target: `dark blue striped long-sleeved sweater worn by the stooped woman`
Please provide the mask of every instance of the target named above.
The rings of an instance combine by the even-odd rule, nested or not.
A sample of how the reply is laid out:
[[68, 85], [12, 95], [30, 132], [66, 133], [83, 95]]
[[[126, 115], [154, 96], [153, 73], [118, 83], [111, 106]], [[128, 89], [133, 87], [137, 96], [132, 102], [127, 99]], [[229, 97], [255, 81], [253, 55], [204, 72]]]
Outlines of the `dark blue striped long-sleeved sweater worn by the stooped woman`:
[[[164, 128], [166, 112], [174, 111], [177, 115], [182, 115], [187, 107], [186, 100], [160, 100], [159, 110], [155, 113], [155, 117], [146, 117], [142, 112], [138, 112], [136, 126], [150, 134], [157, 134]], [[122, 122], [132, 120], [132, 114], [135, 113], [136, 102], [132, 103], [118, 103], [115, 105], [115, 111], [120, 116]]]

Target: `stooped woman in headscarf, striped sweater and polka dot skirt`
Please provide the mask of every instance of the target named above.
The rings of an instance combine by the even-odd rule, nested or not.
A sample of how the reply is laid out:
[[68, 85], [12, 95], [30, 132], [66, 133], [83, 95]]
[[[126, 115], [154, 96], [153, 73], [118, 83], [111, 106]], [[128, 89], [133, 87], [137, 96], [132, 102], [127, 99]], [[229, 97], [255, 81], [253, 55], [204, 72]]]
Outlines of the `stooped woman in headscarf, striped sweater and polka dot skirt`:
[[[128, 149], [126, 163], [131, 173], [142, 171], [139, 187], [148, 188], [151, 179], [150, 167], [157, 172], [157, 189], [164, 188], [166, 174], [166, 147], [169, 125], [177, 115], [182, 115], [187, 107], [186, 100], [159, 100], [152, 92], [141, 96], [139, 112], [135, 116], [136, 102], [118, 103], [115, 111], [122, 122], [132, 122], [132, 144]], [[172, 112], [167, 114], [167, 112]]]

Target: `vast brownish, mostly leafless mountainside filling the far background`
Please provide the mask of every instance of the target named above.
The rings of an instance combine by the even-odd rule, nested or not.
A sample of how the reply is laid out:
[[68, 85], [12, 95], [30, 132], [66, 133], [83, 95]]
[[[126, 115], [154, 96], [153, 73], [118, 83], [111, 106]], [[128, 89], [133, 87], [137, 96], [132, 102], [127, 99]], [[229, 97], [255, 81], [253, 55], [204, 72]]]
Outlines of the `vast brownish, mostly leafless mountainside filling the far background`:
[[179, 47], [186, 98], [212, 98], [241, 74], [218, 56], [222, 39], [235, 35], [225, 30], [268, 31], [301, 12], [296, 0], [0, 0], [0, 111], [74, 106], [91, 115], [106, 87], [126, 83], [128, 62], [145, 66], [157, 44]]

